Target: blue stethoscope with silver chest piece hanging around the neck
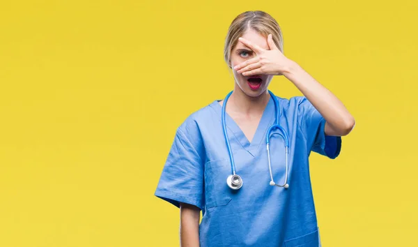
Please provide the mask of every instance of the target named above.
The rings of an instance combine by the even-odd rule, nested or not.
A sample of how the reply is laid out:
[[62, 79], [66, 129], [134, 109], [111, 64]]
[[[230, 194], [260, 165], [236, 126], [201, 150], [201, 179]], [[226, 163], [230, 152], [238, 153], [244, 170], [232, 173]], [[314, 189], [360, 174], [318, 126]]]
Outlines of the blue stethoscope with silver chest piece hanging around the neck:
[[[281, 128], [280, 123], [279, 123], [279, 116], [280, 116], [280, 109], [279, 109], [279, 100], [277, 100], [276, 96], [274, 96], [274, 94], [271, 91], [268, 91], [270, 93], [270, 97], [272, 97], [273, 101], [274, 101], [274, 107], [276, 109], [276, 120], [274, 122], [274, 124], [272, 126], [270, 126], [270, 128], [268, 128], [267, 130], [267, 134], [265, 135], [265, 143], [267, 146], [267, 155], [268, 155], [268, 168], [270, 170], [270, 186], [278, 186], [278, 187], [284, 187], [284, 188], [289, 188], [289, 184], [287, 183], [288, 180], [288, 162], [289, 162], [289, 152], [288, 152], [288, 147], [289, 147], [289, 141], [288, 141], [288, 135], [286, 134], [286, 131], [284, 130], [284, 128]], [[232, 169], [232, 174], [229, 175], [229, 177], [226, 179], [226, 184], [228, 184], [229, 188], [233, 189], [233, 190], [238, 190], [242, 187], [242, 179], [241, 177], [235, 173], [235, 163], [233, 162], [233, 155], [232, 155], [232, 151], [231, 151], [231, 145], [229, 144], [229, 139], [228, 139], [228, 133], [226, 131], [226, 121], [225, 121], [225, 112], [226, 112], [226, 102], [229, 99], [229, 96], [231, 96], [231, 93], [228, 93], [228, 95], [225, 97], [224, 99], [224, 104], [222, 105], [222, 129], [224, 130], [224, 137], [225, 137], [225, 142], [226, 142], [226, 147], [228, 147], [228, 152], [229, 152], [229, 160], [231, 161], [231, 169]], [[274, 129], [279, 129], [281, 131], [281, 133], [272, 133], [272, 130]], [[276, 184], [273, 180], [273, 174], [272, 174], [272, 165], [271, 165], [271, 161], [270, 161], [270, 147], [269, 147], [269, 143], [270, 143], [270, 137], [272, 137], [272, 135], [280, 135], [283, 139], [284, 139], [284, 146], [286, 147], [286, 174], [285, 174], [285, 179], [284, 179], [284, 184]]]

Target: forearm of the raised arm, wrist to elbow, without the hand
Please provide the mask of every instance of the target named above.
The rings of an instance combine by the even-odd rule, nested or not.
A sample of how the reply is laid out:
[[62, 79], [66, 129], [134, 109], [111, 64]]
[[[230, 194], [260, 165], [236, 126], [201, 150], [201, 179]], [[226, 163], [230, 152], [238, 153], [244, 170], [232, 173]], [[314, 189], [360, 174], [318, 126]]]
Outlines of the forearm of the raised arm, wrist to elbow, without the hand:
[[341, 136], [350, 133], [355, 120], [341, 100], [336, 98], [330, 90], [323, 87], [293, 61], [283, 75], [295, 84], [327, 121], [325, 125], [327, 135]]

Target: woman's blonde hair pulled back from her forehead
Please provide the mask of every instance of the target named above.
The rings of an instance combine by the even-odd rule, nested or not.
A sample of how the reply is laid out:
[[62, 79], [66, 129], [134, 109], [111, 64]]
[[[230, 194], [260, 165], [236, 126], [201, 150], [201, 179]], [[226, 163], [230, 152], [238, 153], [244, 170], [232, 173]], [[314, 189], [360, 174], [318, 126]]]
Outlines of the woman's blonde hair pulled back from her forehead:
[[274, 44], [283, 52], [283, 38], [277, 21], [264, 11], [247, 11], [235, 17], [225, 38], [224, 59], [229, 68], [231, 68], [231, 52], [237, 45], [238, 38], [248, 29], [254, 29], [266, 38], [271, 33]]

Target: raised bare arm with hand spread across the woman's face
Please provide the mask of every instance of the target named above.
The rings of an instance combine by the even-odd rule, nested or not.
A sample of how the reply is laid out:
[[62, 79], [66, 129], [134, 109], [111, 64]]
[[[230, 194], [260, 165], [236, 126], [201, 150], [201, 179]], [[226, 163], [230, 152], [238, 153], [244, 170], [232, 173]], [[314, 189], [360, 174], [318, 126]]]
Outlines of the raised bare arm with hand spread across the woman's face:
[[270, 50], [265, 50], [244, 38], [239, 38], [239, 40], [256, 52], [257, 56], [235, 66], [233, 69], [245, 76], [257, 74], [284, 75], [295, 84], [297, 89], [304, 94], [326, 120], [326, 135], [343, 136], [350, 133], [355, 126], [355, 120], [343, 103], [295, 61], [286, 58], [279, 48], [274, 45], [271, 35], [267, 39]]

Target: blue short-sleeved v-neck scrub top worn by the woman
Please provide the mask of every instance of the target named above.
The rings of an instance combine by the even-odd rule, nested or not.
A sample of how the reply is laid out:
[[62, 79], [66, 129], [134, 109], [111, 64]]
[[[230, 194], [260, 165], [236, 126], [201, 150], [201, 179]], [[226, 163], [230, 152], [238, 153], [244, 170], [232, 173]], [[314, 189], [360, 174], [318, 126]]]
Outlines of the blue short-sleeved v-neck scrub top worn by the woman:
[[[320, 237], [309, 177], [309, 154], [336, 158], [341, 137], [325, 136], [325, 119], [305, 97], [279, 98], [281, 126], [289, 137], [289, 188], [270, 186], [265, 135], [274, 124], [270, 98], [251, 143], [226, 114], [229, 142], [240, 190], [226, 178], [231, 163], [222, 132], [218, 100], [191, 114], [178, 128], [155, 195], [176, 207], [180, 202], [202, 210], [201, 247], [317, 247]], [[283, 184], [286, 172], [284, 140], [270, 140], [273, 179]]]

